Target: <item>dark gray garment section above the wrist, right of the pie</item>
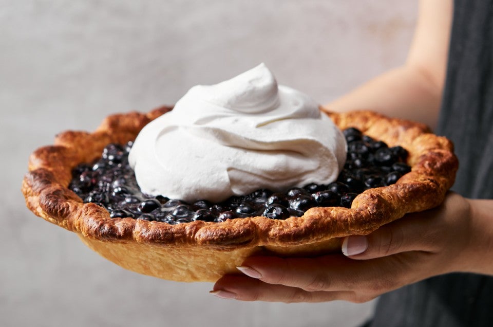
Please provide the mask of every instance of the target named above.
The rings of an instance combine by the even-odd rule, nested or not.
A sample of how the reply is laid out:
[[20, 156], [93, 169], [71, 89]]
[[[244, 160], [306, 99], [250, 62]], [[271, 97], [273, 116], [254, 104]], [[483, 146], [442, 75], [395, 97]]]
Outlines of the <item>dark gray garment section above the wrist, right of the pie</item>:
[[493, 1], [459, 0], [437, 133], [455, 145], [453, 190], [493, 198]]

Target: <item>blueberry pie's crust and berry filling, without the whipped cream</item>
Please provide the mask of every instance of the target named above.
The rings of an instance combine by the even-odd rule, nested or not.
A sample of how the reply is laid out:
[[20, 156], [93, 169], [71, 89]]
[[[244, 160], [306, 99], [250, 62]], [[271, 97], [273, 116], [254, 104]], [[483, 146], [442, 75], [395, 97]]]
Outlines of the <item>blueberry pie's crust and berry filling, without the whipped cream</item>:
[[[372, 112], [329, 113], [348, 141], [345, 168], [329, 185], [261, 189], [216, 204], [151, 197], [138, 190], [125, 155], [144, 125], [169, 110], [113, 115], [94, 133], [56, 136], [30, 157], [22, 187], [28, 208], [124, 268], [215, 281], [254, 253], [334, 251], [346, 235], [438, 206], [458, 168], [452, 143], [424, 125]], [[361, 162], [368, 156], [380, 168]]]

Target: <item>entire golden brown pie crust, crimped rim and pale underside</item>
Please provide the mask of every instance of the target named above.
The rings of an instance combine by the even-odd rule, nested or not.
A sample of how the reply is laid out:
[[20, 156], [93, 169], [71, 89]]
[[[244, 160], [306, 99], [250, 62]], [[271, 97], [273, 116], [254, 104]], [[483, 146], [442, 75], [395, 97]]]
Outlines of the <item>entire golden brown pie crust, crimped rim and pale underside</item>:
[[78, 233], [92, 249], [128, 269], [173, 280], [214, 281], [252, 253], [317, 255], [338, 248], [339, 238], [367, 234], [408, 212], [438, 206], [458, 168], [452, 143], [423, 124], [368, 111], [328, 112], [341, 129], [353, 126], [389, 146], [404, 147], [412, 171], [394, 185], [359, 194], [351, 209], [312, 208], [287, 220], [252, 217], [168, 225], [111, 219], [104, 208], [84, 204], [67, 188], [75, 166], [99, 157], [110, 142], [135, 139], [150, 120], [170, 109], [109, 116], [94, 133], [64, 132], [53, 146], [36, 150], [22, 186], [28, 208]]

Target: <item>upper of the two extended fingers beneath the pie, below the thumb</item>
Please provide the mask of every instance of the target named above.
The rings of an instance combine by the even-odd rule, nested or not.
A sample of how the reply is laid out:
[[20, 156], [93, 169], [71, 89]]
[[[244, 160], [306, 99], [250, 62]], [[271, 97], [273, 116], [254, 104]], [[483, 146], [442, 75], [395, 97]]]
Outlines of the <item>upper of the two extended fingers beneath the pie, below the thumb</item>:
[[[307, 292], [347, 292], [372, 295], [400, 286], [412, 257], [356, 261], [342, 255], [317, 258], [251, 257], [239, 267], [263, 285], [284, 285]], [[382, 277], [382, 272], [391, 278]]]

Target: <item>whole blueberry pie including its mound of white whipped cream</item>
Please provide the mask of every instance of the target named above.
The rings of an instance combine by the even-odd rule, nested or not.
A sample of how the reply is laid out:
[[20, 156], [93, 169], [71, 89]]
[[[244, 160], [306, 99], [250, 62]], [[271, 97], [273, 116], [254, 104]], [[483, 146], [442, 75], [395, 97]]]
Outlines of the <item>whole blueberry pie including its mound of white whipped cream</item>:
[[31, 155], [22, 191], [34, 214], [126, 269], [215, 281], [256, 253], [338, 251], [436, 207], [457, 169], [452, 143], [425, 125], [331, 113], [260, 65], [173, 110], [57, 135]]

